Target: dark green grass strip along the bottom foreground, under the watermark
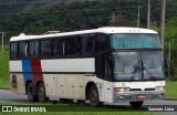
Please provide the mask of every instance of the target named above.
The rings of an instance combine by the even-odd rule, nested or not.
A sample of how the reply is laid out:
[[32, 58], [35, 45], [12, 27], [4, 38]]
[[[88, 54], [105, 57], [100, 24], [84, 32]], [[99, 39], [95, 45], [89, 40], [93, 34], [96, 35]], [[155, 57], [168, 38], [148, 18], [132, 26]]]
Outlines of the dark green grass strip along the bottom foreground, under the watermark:
[[[52, 104], [52, 103], [17, 103], [17, 102], [0, 102], [1, 105], [7, 106], [21, 106], [21, 107], [46, 107], [46, 113], [3, 113], [3, 115], [157, 115], [157, 113], [143, 112], [144, 109], [133, 109], [133, 108], [119, 108], [119, 107], [107, 107], [107, 106], [88, 106], [88, 105], [80, 105], [80, 104]], [[52, 109], [61, 109], [61, 111], [52, 111]], [[50, 111], [49, 111], [50, 109]], [[0, 113], [1, 114], [1, 113]]]

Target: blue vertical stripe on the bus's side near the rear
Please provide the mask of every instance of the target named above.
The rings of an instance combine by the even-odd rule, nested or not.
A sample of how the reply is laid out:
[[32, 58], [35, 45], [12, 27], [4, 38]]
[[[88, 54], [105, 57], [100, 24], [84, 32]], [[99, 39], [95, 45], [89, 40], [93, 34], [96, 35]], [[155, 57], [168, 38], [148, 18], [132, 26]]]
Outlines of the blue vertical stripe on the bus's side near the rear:
[[23, 77], [24, 77], [24, 84], [27, 84], [27, 81], [32, 81], [33, 82], [33, 75], [32, 73], [25, 73], [25, 72], [31, 72], [31, 61], [30, 60], [22, 60], [22, 72]]

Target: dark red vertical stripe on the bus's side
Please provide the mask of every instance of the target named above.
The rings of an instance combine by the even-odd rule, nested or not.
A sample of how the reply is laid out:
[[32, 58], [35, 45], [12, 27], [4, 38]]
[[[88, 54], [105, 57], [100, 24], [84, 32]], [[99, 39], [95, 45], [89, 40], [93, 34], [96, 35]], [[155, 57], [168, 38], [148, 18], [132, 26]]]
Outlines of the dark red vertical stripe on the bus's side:
[[42, 73], [35, 73], [35, 72], [42, 72], [40, 60], [31, 60], [31, 71], [34, 72], [33, 73], [33, 84], [35, 87], [35, 85], [39, 81], [43, 81]]

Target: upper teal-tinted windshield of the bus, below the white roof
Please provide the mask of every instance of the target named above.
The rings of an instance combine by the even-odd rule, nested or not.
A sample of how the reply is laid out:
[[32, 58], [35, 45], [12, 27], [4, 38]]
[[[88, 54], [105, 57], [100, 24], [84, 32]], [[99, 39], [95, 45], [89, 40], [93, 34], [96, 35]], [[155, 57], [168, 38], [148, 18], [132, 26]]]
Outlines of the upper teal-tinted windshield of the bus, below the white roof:
[[112, 49], [160, 49], [158, 34], [112, 34]]

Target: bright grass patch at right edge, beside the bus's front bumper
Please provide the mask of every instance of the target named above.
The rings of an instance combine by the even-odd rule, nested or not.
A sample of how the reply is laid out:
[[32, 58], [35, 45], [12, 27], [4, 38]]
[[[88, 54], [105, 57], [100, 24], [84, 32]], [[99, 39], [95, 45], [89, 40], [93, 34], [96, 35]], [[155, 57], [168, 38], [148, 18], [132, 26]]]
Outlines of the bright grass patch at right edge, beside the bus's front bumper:
[[177, 100], [177, 82], [166, 82], [165, 98]]

